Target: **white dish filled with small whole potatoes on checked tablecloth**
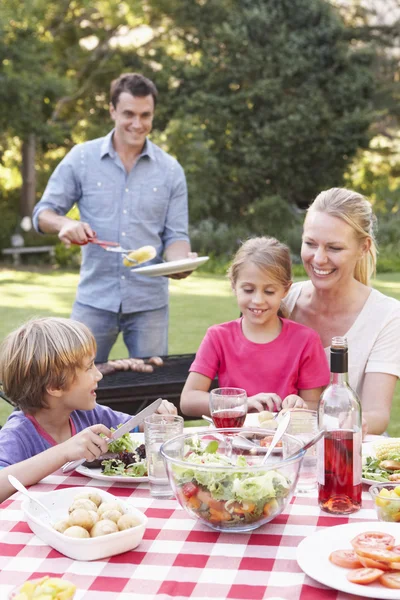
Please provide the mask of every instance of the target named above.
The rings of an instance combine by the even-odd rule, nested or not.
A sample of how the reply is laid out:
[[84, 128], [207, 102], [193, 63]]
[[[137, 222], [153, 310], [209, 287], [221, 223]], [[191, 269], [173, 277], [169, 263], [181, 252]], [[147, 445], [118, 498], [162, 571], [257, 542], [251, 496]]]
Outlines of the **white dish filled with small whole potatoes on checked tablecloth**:
[[[43, 542], [74, 560], [98, 560], [140, 544], [147, 517], [127, 502], [92, 487], [71, 487], [40, 495], [47, 515], [28, 498], [26, 521]], [[68, 531], [69, 530], [69, 531]]]

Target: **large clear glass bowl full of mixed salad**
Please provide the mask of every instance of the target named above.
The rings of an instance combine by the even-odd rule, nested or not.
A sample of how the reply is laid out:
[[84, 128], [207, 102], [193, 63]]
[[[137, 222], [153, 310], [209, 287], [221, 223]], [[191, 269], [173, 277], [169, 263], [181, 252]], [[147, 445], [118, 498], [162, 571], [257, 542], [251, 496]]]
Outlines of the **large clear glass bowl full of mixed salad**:
[[251, 531], [281, 514], [293, 496], [304, 452], [302, 442], [284, 434], [282, 447], [262, 464], [273, 433], [209, 429], [164, 442], [161, 454], [181, 506], [217, 531]]

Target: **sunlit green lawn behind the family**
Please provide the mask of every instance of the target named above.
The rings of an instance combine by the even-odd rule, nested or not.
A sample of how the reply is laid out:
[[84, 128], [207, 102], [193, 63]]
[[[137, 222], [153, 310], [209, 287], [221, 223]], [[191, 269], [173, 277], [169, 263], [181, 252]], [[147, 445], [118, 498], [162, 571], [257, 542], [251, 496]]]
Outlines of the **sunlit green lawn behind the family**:
[[[68, 317], [77, 283], [77, 273], [0, 270], [0, 340], [29, 318]], [[400, 300], [400, 273], [381, 275], [374, 285], [382, 293]], [[171, 280], [170, 293], [170, 354], [196, 352], [207, 327], [238, 316], [236, 301], [223, 276], [196, 272], [182, 281]], [[111, 357], [124, 356], [127, 351], [120, 337]], [[9, 405], [0, 399], [0, 424], [9, 412]], [[396, 388], [389, 432], [400, 437], [400, 383]]]

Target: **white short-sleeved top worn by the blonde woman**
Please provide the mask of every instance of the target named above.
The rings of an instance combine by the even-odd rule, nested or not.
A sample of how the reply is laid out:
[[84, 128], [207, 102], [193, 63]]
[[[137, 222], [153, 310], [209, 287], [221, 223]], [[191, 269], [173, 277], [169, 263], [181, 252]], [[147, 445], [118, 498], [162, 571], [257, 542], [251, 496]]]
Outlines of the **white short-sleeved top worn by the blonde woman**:
[[[284, 303], [289, 319], [305, 281], [294, 283]], [[349, 345], [349, 383], [361, 394], [365, 373], [400, 377], [400, 302], [372, 289], [361, 312], [345, 334]], [[329, 346], [325, 348], [329, 363]]]

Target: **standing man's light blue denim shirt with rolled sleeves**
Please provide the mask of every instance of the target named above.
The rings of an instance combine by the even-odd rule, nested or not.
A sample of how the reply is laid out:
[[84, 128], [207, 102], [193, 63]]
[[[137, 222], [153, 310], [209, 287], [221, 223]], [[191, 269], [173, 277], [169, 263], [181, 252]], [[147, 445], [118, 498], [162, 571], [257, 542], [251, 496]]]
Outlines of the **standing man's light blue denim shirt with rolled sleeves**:
[[[33, 212], [51, 209], [65, 215], [76, 203], [81, 220], [99, 239], [123, 248], [154, 246], [162, 260], [167, 246], [188, 238], [185, 174], [180, 164], [146, 140], [135, 166], [127, 173], [106, 137], [72, 148], [50, 177]], [[76, 299], [112, 312], [154, 310], [168, 303], [168, 278], [146, 277], [125, 267], [119, 254], [95, 244], [82, 247], [82, 266]]]

